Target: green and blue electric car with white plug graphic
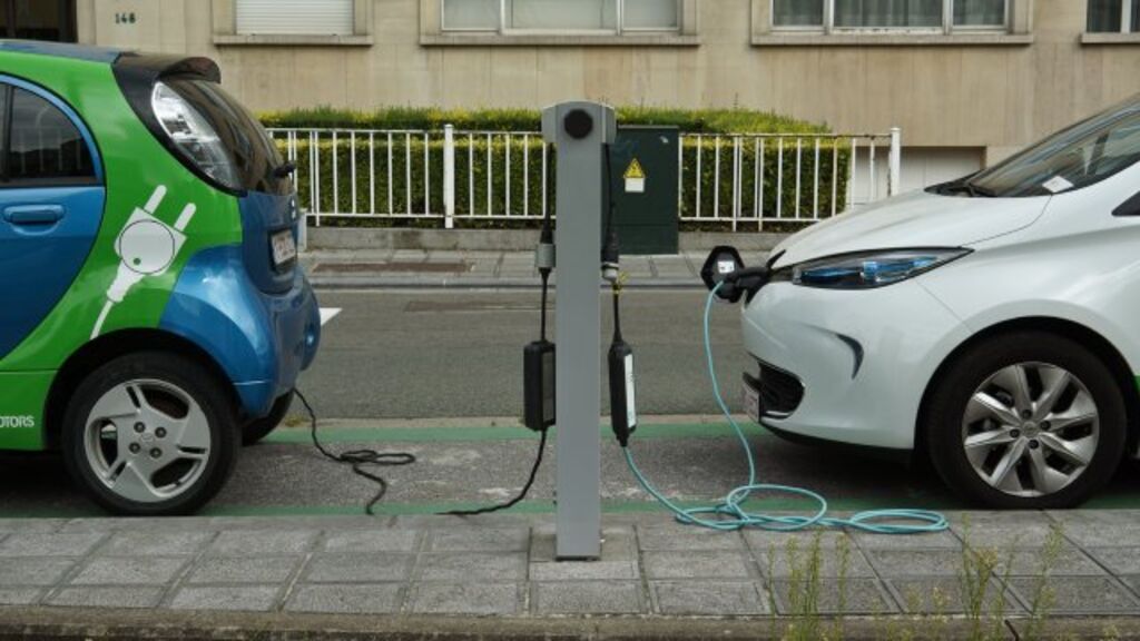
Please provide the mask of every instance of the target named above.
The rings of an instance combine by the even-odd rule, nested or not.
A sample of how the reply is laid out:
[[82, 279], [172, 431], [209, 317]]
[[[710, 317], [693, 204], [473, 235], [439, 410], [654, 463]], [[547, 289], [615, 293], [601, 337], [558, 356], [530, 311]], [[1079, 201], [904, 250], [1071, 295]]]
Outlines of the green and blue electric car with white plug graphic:
[[319, 343], [291, 170], [209, 59], [0, 41], [0, 449], [209, 501]]

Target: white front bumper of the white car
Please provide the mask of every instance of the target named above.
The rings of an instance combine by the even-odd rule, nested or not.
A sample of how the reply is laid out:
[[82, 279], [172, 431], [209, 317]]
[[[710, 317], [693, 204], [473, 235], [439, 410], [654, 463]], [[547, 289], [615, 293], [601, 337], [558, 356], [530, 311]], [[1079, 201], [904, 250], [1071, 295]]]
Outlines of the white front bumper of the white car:
[[[918, 282], [864, 291], [772, 283], [743, 310], [759, 420], [814, 439], [914, 446], [927, 383], [968, 332]], [[747, 381], [746, 381], [746, 384]]]

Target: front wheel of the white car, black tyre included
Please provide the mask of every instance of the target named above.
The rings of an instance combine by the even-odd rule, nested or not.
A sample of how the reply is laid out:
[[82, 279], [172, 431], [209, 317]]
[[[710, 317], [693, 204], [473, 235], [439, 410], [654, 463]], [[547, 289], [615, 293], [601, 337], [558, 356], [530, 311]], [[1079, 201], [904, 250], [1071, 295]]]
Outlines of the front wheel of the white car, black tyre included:
[[992, 508], [1070, 508], [1119, 465], [1124, 399], [1100, 359], [1044, 332], [994, 336], [933, 390], [929, 453], [946, 484]]

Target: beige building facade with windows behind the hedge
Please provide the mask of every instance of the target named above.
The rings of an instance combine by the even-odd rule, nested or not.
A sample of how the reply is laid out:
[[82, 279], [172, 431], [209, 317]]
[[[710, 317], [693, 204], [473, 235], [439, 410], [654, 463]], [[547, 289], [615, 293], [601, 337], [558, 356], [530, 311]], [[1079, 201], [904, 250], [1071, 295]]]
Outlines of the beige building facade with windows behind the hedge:
[[1140, 91], [1140, 0], [58, 5], [74, 11], [80, 42], [218, 59], [255, 109], [742, 106], [841, 132], [901, 127], [904, 187], [966, 173]]

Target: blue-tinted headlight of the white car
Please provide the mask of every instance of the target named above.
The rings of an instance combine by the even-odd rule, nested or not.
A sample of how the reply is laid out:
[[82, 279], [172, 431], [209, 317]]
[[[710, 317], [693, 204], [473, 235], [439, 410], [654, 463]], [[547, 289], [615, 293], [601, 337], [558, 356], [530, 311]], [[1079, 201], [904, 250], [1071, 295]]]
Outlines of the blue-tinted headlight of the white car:
[[961, 248], [887, 250], [821, 258], [792, 268], [791, 282], [806, 287], [866, 290], [905, 281], [961, 258]]

